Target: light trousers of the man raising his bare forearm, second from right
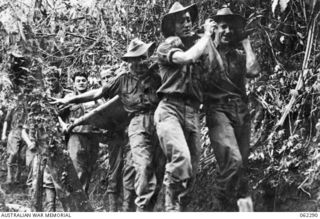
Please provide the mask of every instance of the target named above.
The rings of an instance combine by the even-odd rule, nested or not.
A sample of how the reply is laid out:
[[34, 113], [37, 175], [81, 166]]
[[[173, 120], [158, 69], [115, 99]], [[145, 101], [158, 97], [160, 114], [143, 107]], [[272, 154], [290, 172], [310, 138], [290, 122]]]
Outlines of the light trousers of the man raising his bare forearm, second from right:
[[160, 145], [166, 156], [164, 184], [181, 206], [191, 201], [201, 144], [198, 106], [163, 99], [155, 111]]

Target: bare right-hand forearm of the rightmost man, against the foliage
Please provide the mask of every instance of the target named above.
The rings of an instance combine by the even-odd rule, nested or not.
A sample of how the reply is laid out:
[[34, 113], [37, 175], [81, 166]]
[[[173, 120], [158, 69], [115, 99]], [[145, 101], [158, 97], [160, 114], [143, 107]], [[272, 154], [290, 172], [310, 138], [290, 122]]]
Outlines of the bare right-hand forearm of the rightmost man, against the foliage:
[[242, 40], [242, 46], [246, 54], [246, 76], [256, 77], [260, 73], [260, 65], [248, 38]]

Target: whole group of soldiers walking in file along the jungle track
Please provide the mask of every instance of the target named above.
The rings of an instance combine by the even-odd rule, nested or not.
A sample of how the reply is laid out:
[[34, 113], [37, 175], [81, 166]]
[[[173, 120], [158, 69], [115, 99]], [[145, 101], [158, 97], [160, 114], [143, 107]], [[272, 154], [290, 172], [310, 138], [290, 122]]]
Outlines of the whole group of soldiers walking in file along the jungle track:
[[[250, 114], [245, 82], [246, 77], [258, 76], [260, 67], [244, 31], [244, 17], [222, 8], [205, 21], [203, 33], [193, 31], [197, 19], [196, 4], [184, 7], [175, 2], [162, 18], [165, 40], [158, 48], [154, 42], [133, 39], [122, 56], [129, 69], [116, 75], [108, 66], [101, 71], [102, 86], [98, 89], [88, 90], [87, 75], [77, 72], [73, 75], [75, 92], [63, 95], [54, 85], [57, 75], [49, 77], [58, 71], [46, 74], [51, 104], [59, 108], [71, 105], [68, 115], [62, 116], [66, 123], [72, 124], [101, 104], [99, 101], [108, 102], [114, 97], [120, 99], [128, 114], [127, 127], [114, 124], [108, 130], [110, 211], [121, 210], [121, 184], [123, 211], [153, 211], [162, 187], [165, 211], [191, 210], [188, 204], [193, 198], [201, 154], [200, 112], [206, 116], [218, 164], [214, 195], [219, 208], [233, 211], [238, 204], [252, 209], [246, 171]], [[157, 67], [150, 67], [154, 53]], [[23, 113], [17, 115], [22, 121]], [[16, 123], [11, 125], [17, 131], [10, 132], [7, 147], [8, 182], [14, 180], [17, 147], [11, 150], [10, 146], [16, 144], [16, 136], [27, 139], [29, 148], [34, 147], [23, 124]], [[2, 138], [6, 138], [5, 127]], [[80, 125], [67, 131], [69, 155], [87, 193], [99, 150], [95, 127]], [[50, 183], [50, 174], [50, 169], [45, 171], [43, 185], [47, 210], [54, 211], [57, 188]]]

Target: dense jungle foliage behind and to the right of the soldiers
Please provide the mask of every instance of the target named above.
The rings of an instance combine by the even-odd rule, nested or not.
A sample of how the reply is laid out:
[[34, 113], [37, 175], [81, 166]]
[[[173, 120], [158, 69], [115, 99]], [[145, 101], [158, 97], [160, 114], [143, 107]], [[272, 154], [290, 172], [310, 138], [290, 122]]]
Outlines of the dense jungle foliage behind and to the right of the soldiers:
[[[32, 92], [43, 90], [40, 79], [46, 66], [61, 69], [65, 87], [74, 69], [87, 72], [90, 81], [96, 83], [104, 65], [122, 66], [120, 57], [133, 37], [156, 43], [162, 40], [161, 17], [173, 2], [1, 0], [1, 106], [10, 104], [9, 96], [15, 86], [37, 84]], [[253, 189], [263, 191], [265, 197], [272, 193], [273, 203], [290, 196], [291, 188], [318, 199], [319, 1], [200, 0], [197, 5], [198, 24], [217, 8], [228, 5], [248, 18], [247, 28], [254, 30], [250, 39], [263, 71], [261, 77], [248, 81], [247, 86], [253, 122], [250, 156]], [[20, 58], [13, 60], [15, 57]], [[30, 95], [30, 103], [43, 103], [44, 99]], [[205, 190], [199, 193], [204, 196], [199, 196], [199, 200], [207, 201], [215, 165], [206, 131], [203, 127], [200, 178], [208, 181], [206, 186], [197, 188]], [[198, 210], [211, 209], [208, 204]], [[275, 210], [275, 205], [268, 210]]]

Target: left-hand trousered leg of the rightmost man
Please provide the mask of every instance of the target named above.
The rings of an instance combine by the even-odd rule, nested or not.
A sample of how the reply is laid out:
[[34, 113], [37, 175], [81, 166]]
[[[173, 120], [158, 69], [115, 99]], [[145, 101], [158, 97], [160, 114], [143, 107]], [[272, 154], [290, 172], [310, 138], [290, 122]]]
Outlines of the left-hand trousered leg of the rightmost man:
[[225, 113], [213, 111], [207, 114], [209, 137], [218, 163], [217, 189], [222, 210], [236, 210], [235, 189], [242, 169], [242, 156], [234, 127]]

